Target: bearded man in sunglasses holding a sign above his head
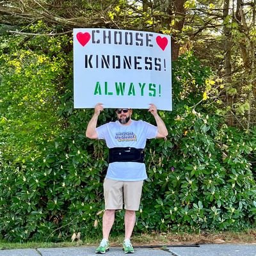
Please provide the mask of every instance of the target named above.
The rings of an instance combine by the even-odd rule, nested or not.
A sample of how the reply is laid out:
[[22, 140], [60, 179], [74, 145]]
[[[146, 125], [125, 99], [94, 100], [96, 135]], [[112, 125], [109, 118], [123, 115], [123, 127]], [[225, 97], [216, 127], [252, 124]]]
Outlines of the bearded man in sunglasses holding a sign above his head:
[[168, 131], [163, 120], [157, 114], [157, 108], [150, 104], [148, 111], [154, 116], [157, 126], [144, 121], [131, 119], [132, 109], [116, 109], [116, 122], [97, 127], [97, 120], [103, 105], [98, 103], [94, 115], [86, 129], [86, 137], [106, 140], [109, 148], [109, 166], [104, 180], [105, 212], [102, 218], [103, 239], [96, 253], [109, 250], [109, 233], [115, 220], [115, 211], [125, 209], [125, 239], [123, 250], [134, 253], [130, 237], [136, 220], [136, 211], [140, 207], [143, 180], [147, 179], [144, 153], [147, 139], [165, 138]]

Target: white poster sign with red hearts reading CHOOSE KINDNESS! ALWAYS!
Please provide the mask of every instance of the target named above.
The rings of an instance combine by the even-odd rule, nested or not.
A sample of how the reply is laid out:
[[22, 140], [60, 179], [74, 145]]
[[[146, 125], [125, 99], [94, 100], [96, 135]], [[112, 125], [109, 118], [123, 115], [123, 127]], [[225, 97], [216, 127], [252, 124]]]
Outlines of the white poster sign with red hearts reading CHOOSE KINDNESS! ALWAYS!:
[[74, 29], [74, 107], [172, 110], [171, 38], [120, 29]]

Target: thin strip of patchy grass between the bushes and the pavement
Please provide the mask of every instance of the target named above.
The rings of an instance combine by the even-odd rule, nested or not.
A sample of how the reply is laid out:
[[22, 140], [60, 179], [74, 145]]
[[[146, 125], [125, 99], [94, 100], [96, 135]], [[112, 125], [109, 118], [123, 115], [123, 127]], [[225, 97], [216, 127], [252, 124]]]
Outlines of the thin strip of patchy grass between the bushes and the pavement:
[[[83, 239], [83, 237], [82, 237]], [[111, 246], [121, 246], [124, 236], [109, 238]], [[170, 244], [245, 244], [256, 243], [256, 230], [227, 231], [227, 232], [200, 232], [200, 233], [158, 233], [136, 234], [131, 238], [134, 246], [140, 245], [170, 245]], [[86, 237], [83, 241], [64, 241], [61, 243], [29, 242], [29, 243], [7, 243], [0, 241], [0, 250], [25, 249], [25, 248], [61, 248], [78, 246], [97, 246], [99, 238]]]

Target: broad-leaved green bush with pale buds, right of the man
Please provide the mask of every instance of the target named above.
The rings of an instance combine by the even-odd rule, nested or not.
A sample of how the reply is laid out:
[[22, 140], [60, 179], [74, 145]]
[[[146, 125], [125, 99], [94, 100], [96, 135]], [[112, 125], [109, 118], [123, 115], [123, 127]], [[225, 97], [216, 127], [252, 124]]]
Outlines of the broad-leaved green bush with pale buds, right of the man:
[[[195, 231], [252, 226], [256, 201], [248, 138], [241, 139], [241, 131], [226, 125], [220, 127], [215, 118], [191, 111], [175, 118], [169, 137], [150, 143], [156, 149], [148, 159], [140, 228]], [[157, 152], [159, 146], [170, 151]]]

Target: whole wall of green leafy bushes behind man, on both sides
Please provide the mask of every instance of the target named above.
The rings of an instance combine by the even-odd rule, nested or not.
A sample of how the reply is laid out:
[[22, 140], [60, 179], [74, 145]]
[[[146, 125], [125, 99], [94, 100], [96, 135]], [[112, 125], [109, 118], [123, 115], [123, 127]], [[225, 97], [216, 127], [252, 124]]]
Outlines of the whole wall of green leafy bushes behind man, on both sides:
[[[38, 24], [37, 29], [47, 28]], [[1, 74], [0, 238], [61, 241], [73, 232], [99, 236], [108, 149], [104, 141], [85, 138], [93, 110], [73, 109], [68, 38], [29, 42], [29, 47], [38, 45], [47, 49], [45, 54], [10, 46], [13, 53], [0, 59], [8, 71]], [[202, 100], [210, 79], [211, 70], [193, 54], [173, 65], [174, 110], [159, 111], [169, 136], [148, 141], [148, 179], [135, 232], [225, 230], [255, 223], [250, 160], [256, 132], [227, 127], [214, 115], [211, 99]], [[134, 111], [134, 119], [154, 124], [145, 110]], [[113, 109], [105, 109], [99, 125], [111, 120]], [[123, 218], [124, 211], [118, 211], [113, 234], [123, 232]]]

